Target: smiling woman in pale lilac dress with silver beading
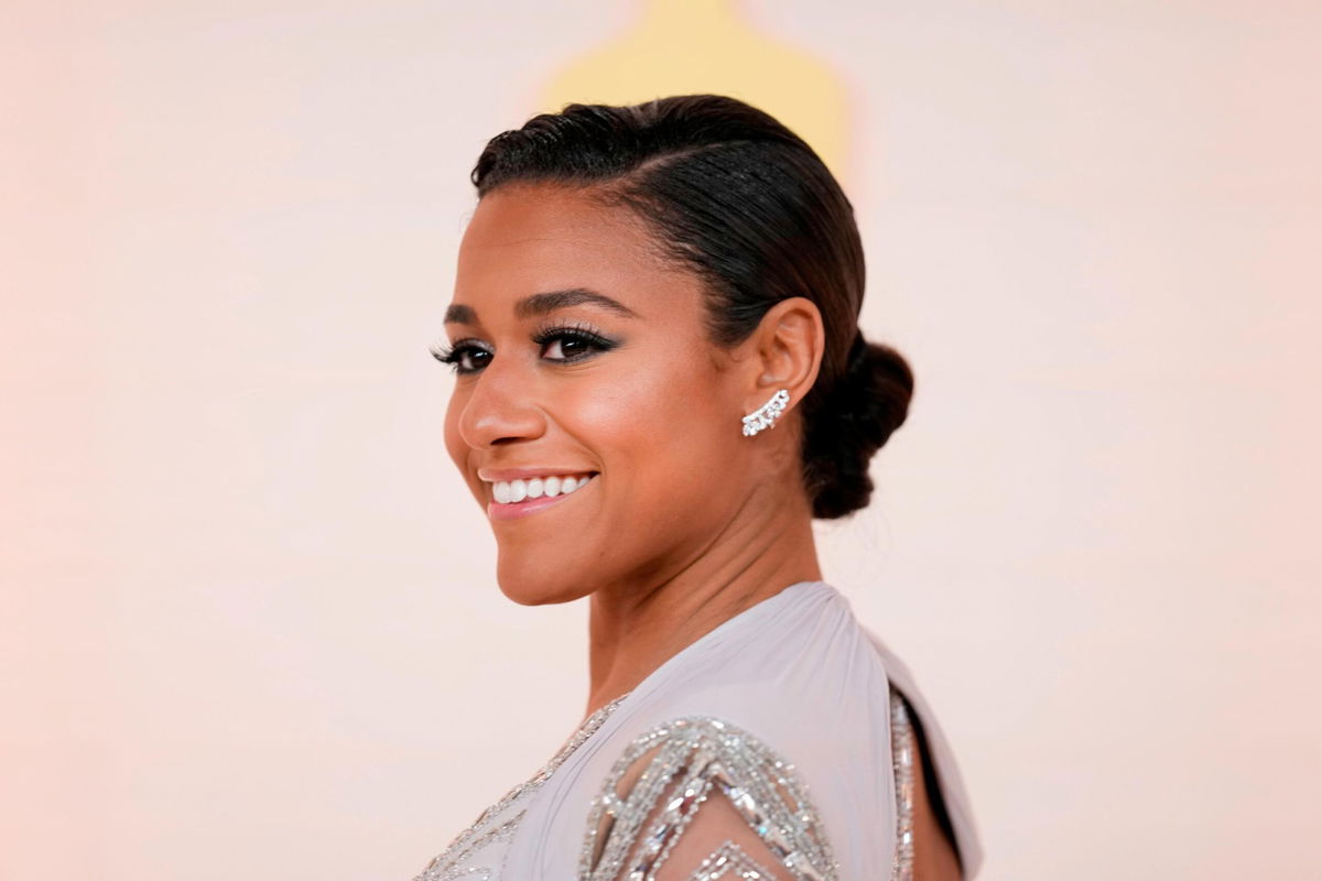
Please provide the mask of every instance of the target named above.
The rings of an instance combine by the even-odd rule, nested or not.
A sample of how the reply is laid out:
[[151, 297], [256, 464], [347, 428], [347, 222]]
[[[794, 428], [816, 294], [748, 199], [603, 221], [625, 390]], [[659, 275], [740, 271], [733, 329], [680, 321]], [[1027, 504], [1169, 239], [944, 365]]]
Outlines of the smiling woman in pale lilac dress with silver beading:
[[586, 720], [419, 880], [921, 881], [981, 861], [904, 666], [821, 580], [912, 375], [853, 209], [717, 95], [570, 104], [472, 176], [446, 445], [516, 602], [587, 597]]

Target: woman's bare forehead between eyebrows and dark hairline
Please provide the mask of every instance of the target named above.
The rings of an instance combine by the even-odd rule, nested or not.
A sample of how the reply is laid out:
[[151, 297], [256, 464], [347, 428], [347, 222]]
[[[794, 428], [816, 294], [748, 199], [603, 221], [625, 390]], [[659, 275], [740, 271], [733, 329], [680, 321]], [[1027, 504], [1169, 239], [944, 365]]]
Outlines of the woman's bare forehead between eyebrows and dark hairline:
[[686, 302], [697, 308], [701, 295], [697, 276], [666, 262], [628, 209], [545, 184], [483, 197], [459, 248], [453, 301], [483, 320], [505, 320], [521, 297], [572, 288], [600, 291], [644, 318], [664, 318]]

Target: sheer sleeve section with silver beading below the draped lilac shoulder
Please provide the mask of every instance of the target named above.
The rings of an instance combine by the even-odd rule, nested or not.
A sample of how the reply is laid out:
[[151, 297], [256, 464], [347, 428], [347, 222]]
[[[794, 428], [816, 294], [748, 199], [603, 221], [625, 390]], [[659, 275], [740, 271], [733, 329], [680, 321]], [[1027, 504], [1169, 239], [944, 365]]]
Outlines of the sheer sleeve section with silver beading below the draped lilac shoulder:
[[686, 716], [636, 738], [587, 819], [579, 881], [836, 881], [798, 770], [748, 732]]

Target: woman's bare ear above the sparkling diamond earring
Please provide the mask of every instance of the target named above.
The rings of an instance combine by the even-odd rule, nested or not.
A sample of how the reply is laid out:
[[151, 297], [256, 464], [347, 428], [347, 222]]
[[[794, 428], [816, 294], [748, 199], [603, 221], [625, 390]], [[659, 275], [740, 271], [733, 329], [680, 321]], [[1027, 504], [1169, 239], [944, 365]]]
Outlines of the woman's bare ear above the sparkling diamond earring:
[[789, 391], [787, 408], [798, 405], [817, 382], [826, 345], [826, 325], [817, 304], [808, 297], [781, 300], [761, 317], [748, 341], [750, 390], [744, 412], [751, 413], [776, 394]]

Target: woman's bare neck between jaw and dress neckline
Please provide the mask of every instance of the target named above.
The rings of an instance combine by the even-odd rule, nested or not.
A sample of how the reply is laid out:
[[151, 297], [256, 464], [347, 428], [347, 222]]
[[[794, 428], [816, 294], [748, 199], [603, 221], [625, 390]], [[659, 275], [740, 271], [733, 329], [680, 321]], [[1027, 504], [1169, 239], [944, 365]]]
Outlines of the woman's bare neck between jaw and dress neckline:
[[812, 511], [750, 505], [697, 559], [662, 580], [612, 585], [588, 612], [587, 715], [632, 691], [657, 667], [730, 618], [798, 581], [820, 581]]

